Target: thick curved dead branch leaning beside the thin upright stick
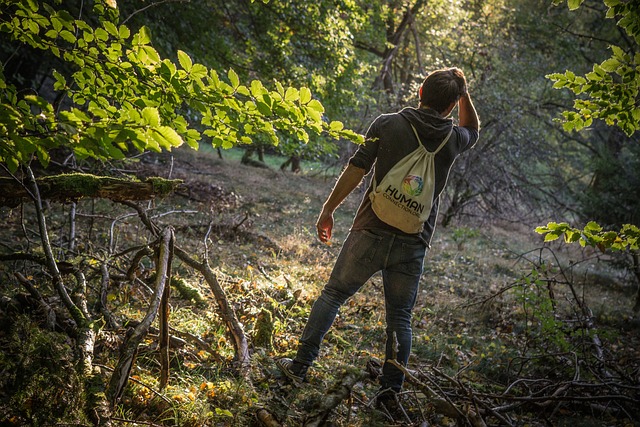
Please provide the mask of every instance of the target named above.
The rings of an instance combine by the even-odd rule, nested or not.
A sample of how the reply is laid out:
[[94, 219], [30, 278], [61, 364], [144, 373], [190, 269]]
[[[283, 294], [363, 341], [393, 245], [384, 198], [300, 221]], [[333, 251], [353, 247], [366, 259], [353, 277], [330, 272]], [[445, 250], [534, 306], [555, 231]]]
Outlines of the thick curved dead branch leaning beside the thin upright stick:
[[127, 336], [122, 344], [120, 350], [120, 356], [118, 358], [118, 364], [116, 365], [109, 385], [107, 387], [107, 399], [111, 405], [115, 405], [116, 402], [122, 396], [125, 386], [131, 373], [131, 368], [135, 362], [135, 358], [138, 353], [138, 346], [147, 336], [151, 324], [156, 318], [160, 304], [164, 296], [164, 289], [168, 286], [168, 278], [171, 277], [171, 257], [173, 253], [174, 236], [173, 230], [167, 227], [162, 232], [162, 242], [159, 250], [159, 263], [156, 274], [156, 288], [151, 300], [151, 304], [147, 310], [142, 322], [135, 328], [127, 331]]

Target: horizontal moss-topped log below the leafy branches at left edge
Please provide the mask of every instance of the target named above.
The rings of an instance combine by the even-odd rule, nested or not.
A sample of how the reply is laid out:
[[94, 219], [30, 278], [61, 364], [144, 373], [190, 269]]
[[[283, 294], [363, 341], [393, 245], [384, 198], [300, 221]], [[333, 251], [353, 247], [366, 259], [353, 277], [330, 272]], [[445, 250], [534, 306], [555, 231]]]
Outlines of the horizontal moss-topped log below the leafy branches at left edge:
[[[85, 197], [114, 201], [162, 198], [182, 183], [178, 179], [151, 177], [139, 181], [84, 173], [45, 176], [37, 178], [36, 182], [43, 200], [63, 202]], [[27, 198], [29, 193], [25, 186], [13, 178], [0, 177], [0, 206], [15, 207]]]

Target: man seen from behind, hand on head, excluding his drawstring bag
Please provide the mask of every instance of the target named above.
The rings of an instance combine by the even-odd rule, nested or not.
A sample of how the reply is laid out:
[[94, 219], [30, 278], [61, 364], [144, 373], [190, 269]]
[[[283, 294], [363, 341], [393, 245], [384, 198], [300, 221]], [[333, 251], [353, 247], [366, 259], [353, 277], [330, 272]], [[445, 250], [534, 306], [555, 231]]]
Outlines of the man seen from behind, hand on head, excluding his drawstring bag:
[[[448, 118], [456, 105], [458, 126]], [[395, 359], [405, 366], [409, 360], [411, 312], [416, 302], [423, 259], [435, 229], [439, 195], [456, 157], [478, 140], [478, 115], [461, 70], [449, 68], [432, 72], [420, 88], [418, 108], [407, 107], [397, 113], [383, 114], [373, 121], [365, 144], [349, 160], [316, 224], [318, 237], [322, 242], [328, 242], [334, 211], [374, 164], [375, 180], [372, 181], [380, 182], [394, 164], [416, 149], [419, 142], [411, 125], [431, 152], [453, 129], [449, 140], [435, 156], [434, 203], [429, 219], [422, 232], [416, 234], [407, 234], [386, 224], [373, 212], [369, 198], [372, 186], [369, 186], [329, 281], [313, 305], [295, 359], [277, 361], [282, 372], [296, 382], [304, 381], [307, 369], [318, 357], [322, 339], [340, 306], [379, 271], [382, 272], [385, 296], [385, 360]], [[395, 396], [402, 388], [404, 374], [385, 361], [380, 382], [387, 396], [389, 393]]]

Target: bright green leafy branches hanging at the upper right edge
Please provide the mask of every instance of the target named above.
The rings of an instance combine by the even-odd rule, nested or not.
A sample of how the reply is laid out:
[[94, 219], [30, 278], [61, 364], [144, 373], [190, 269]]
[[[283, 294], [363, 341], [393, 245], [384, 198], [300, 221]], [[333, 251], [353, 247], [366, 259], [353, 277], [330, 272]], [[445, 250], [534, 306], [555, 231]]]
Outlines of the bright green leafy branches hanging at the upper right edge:
[[[584, 0], [570, 0], [569, 9], [575, 10]], [[554, 4], [564, 0], [555, 0]], [[637, 2], [604, 0], [607, 18], [618, 19], [617, 25], [629, 36], [629, 47], [611, 45], [611, 57], [593, 65], [593, 71], [584, 76], [572, 71], [553, 73], [547, 77], [554, 88], [567, 88], [576, 95], [574, 111], [565, 111], [564, 129], [580, 130], [591, 126], [594, 119], [608, 125], [619, 126], [627, 135], [640, 130], [640, 12]]]

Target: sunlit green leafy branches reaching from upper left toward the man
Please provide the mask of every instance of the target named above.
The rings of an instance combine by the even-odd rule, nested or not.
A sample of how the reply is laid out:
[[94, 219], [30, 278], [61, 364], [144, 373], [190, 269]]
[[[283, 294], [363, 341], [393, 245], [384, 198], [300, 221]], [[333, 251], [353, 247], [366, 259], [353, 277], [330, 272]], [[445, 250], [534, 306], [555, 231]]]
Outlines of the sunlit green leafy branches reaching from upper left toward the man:
[[233, 69], [223, 78], [182, 51], [177, 63], [162, 59], [146, 27], [131, 34], [116, 24], [117, 11], [100, 2], [94, 11], [100, 18], [95, 28], [46, 3], [3, 6], [1, 16], [12, 18], [0, 22], [0, 31], [74, 69], [70, 76], [53, 73], [54, 89], [72, 101], [66, 109], [19, 94], [0, 74], [0, 127], [9, 137], [0, 160], [11, 171], [32, 155], [46, 166], [48, 152], [57, 147], [69, 147], [80, 158], [122, 159], [131, 148], [169, 151], [184, 142], [197, 148], [202, 134], [225, 148], [251, 143], [259, 134], [273, 145], [281, 134], [303, 142], [309, 133], [362, 139], [325, 120], [324, 107], [307, 87], [276, 82], [270, 90], [259, 80], [245, 85]]

